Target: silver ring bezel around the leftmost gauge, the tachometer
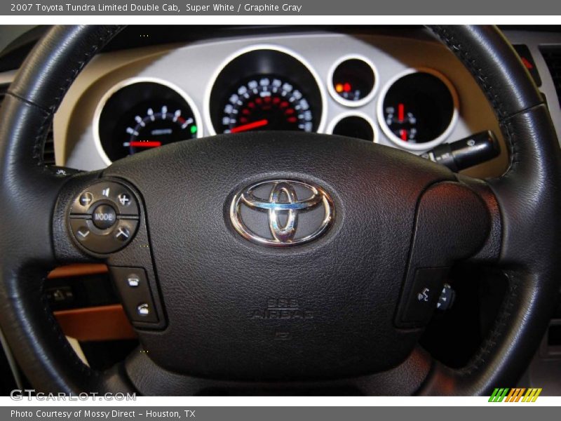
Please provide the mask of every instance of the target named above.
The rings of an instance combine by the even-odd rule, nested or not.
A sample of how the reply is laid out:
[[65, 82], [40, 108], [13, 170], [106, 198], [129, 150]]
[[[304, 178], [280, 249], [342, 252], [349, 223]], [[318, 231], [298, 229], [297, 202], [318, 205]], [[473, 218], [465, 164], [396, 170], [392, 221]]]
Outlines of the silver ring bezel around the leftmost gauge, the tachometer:
[[128, 79], [123, 79], [122, 81], [115, 83], [113, 86], [111, 86], [111, 88], [109, 88], [109, 90], [106, 93], [103, 94], [102, 98], [100, 99], [100, 102], [97, 103], [97, 107], [95, 107], [95, 112], [93, 114], [93, 141], [94, 141], [95, 149], [97, 149], [97, 153], [100, 154], [101, 159], [108, 166], [111, 165], [113, 161], [111, 161], [111, 159], [109, 159], [109, 156], [107, 156], [107, 154], [105, 153], [100, 138], [100, 117], [102, 111], [105, 105], [107, 104], [107, 101], [109, 100], [109, 98], [111, 98], [112, 95], [114, 95], [114, 93], [120, 91], [122, 88], [126, 88], [127, 86], [130, 85], [134, 85], [135, 83], [145, 83], [145, 82], [157, 83], [161, 86], [165, 86], [166, 88], [171, 89], [172, 91], [175, 91], [177, 95], [180, 95], [180, 97], [183, 100], [185, 100], [185, 102], [187, 102], [187, 105], [189, 105], [189, 107], [191, 108], [191, 112], [193, 112], [195, 124], [197, 126], [196, 139], [201, 138], [201, 135], [203, 133], [203, 126], [201, 124], [203, 119], [201, 118], [201, 113], [198, 111], [198, 108], [196, 107], [194, 100], [192, 100], [191, 97], [182, 90], [182, 88], [175, 85], [175, 83], [171, 83], [170, 81], [166, 81], [165, 79], [160, 79], [158, 77], [135, 76], [135, 77], [130, 77]]

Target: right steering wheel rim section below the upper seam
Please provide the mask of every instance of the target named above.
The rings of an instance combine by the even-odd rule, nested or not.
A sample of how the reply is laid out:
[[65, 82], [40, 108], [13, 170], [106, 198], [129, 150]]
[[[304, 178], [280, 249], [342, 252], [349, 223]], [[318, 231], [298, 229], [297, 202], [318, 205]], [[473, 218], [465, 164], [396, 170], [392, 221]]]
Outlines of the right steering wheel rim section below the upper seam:
[[[546, 107], [540, 105], [503, 121], [513, 149], [506, 175], [489, 180], [501, 207], [503, 247], [499, 265], [508, 276], [508, 295], [494, 329], [462, 370], [438, 366], [424, 389], [444, 394], [486, 394], [515, 384], [543, 337], [559, 290], [561, 227], [558, 215], [559, 149]], [[539, 165], [527, 161], [534, 156]], [[507, 367], [508, 370], [503, 370]]]

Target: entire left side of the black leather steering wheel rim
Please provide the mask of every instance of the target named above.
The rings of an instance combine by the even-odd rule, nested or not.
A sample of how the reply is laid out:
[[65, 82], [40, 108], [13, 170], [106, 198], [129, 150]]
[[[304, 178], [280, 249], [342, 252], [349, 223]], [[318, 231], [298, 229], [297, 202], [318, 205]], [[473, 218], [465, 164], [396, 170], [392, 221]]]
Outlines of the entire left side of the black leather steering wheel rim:
[[[100, 46], [93, 42], [99, 31], [58, 27], [47, 34], [16, 77], [0, 114], [0, 324], [25, 375], [44, 392], [130, 390], [121, 368], [95, 373], [81, 363], [42, 293], [55, 265], [53, 209], [65, 182], [44, 168], [43, 143], [58, 100], [95, 53], [92, 46]], [[50, 60], [55, 57], [57, 63]]]

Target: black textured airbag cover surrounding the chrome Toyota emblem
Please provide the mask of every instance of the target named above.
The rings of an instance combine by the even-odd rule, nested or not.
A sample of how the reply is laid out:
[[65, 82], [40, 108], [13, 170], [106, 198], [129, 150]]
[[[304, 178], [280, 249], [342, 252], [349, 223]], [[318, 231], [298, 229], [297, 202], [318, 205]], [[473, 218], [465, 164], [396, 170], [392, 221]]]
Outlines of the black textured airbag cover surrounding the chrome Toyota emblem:
[[[140, 338], [163, 368], [232, 380], [351, 377], [396, 366], [410, 353], [419, 332], [396, 329], [393, 316], [417, 199], [435, 182], [454, 180], [444, 166], [351, 138], [251, 132], [177, 142], [122, 159], [103, 175], [130, 181], [144, 196], [168, 328]], [[284, 178], [332, 196], [330, 231], [288, 249], [234, 232], [232, 196]], [[472, 253], [487, 234], [485, 225], [473, 228], [480, 237]], [[428, 264], [435, 253], [439, 262], [449, 251], [461, 254], [466, 231], [462, 241], [437, 231], [439, 247], [424, 250]], [[271, 299], [294, 300], [288, 307], [313, 316], [255, 316]]]

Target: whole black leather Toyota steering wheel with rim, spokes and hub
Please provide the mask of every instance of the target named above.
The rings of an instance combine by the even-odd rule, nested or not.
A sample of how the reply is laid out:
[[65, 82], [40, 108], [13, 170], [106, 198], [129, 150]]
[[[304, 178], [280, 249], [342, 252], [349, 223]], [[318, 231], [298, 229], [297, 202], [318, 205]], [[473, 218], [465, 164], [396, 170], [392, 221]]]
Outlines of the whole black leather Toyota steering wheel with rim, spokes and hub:
[[[0, 323], [34, 387], [473, 395], [515, 384], [559, 288], [561, 161], [543, 99], [496, 27], [431, 29], [494, 109], [510, 152], [500, 178], [288, 132], [55, 174], [41, 161], [53, 114], [121, 29], [53, 27], [1, 109]], [[110, 267], [141, 344], [103, 372], [78, 359], [42, 293], [50, 269], [91, 260]], [[417, 345], [458, 260], [508, 277], [494, 328], [461, 369]]]

